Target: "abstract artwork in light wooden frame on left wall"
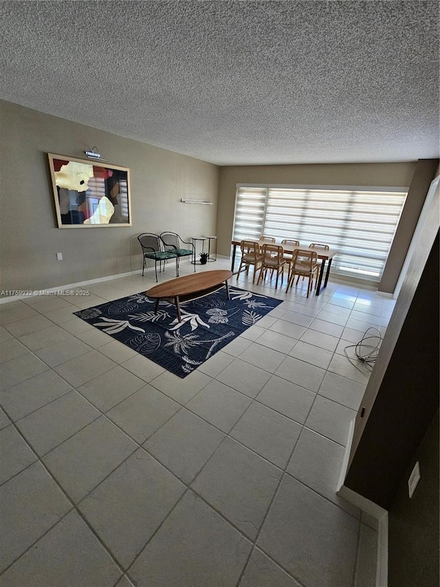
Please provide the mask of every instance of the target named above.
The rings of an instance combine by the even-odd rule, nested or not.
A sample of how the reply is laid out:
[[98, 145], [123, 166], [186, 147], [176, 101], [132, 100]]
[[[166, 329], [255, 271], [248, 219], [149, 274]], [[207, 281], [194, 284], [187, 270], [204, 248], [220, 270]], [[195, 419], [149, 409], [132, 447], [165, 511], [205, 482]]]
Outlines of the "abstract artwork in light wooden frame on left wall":
[[58, 228], [131, 226], [128, 167], [48, 156]]

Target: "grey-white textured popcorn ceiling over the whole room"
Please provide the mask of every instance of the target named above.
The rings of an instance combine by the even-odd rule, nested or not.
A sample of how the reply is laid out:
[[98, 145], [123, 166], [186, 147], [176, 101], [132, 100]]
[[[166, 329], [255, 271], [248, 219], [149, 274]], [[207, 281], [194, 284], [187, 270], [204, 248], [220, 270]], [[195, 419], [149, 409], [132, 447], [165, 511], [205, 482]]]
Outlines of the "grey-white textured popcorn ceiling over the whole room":
[[419, 0], [2, 1], [0, 97], [221, 165], [432, 158], [438, 13]]

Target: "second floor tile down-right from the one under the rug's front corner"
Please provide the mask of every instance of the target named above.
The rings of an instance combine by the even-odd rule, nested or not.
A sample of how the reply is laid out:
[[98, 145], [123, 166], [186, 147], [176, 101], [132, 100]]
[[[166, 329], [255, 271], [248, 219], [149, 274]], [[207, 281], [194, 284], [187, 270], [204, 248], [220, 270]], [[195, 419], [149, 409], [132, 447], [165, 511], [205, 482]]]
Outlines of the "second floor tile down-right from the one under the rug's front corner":
[[230, 436], [284, 469], [300, 431], [298, 423], [254, 402], [232, 428]]

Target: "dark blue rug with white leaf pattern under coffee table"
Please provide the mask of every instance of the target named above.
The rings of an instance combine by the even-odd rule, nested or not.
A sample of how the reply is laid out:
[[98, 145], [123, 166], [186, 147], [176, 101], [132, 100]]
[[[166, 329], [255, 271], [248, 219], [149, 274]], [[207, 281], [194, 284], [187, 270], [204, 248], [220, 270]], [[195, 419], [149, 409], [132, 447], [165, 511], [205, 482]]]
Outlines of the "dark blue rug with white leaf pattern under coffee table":
[[180, 303], [155, 303], [143, 293], [74, 312], [117, 341], [179, 377], [186, 377], [213, 354], [256, 324], [282, 300], [225, 286]]

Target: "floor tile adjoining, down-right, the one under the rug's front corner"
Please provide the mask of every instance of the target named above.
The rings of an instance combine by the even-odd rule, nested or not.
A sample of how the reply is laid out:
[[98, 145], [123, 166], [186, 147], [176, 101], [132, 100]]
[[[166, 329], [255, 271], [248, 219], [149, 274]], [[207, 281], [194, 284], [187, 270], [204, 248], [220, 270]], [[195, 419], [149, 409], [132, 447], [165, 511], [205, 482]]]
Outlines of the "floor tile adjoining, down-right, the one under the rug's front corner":
[[228, 385], [211, 381], [186, 404], [186, 407], [228, 433], [251, 401]]

